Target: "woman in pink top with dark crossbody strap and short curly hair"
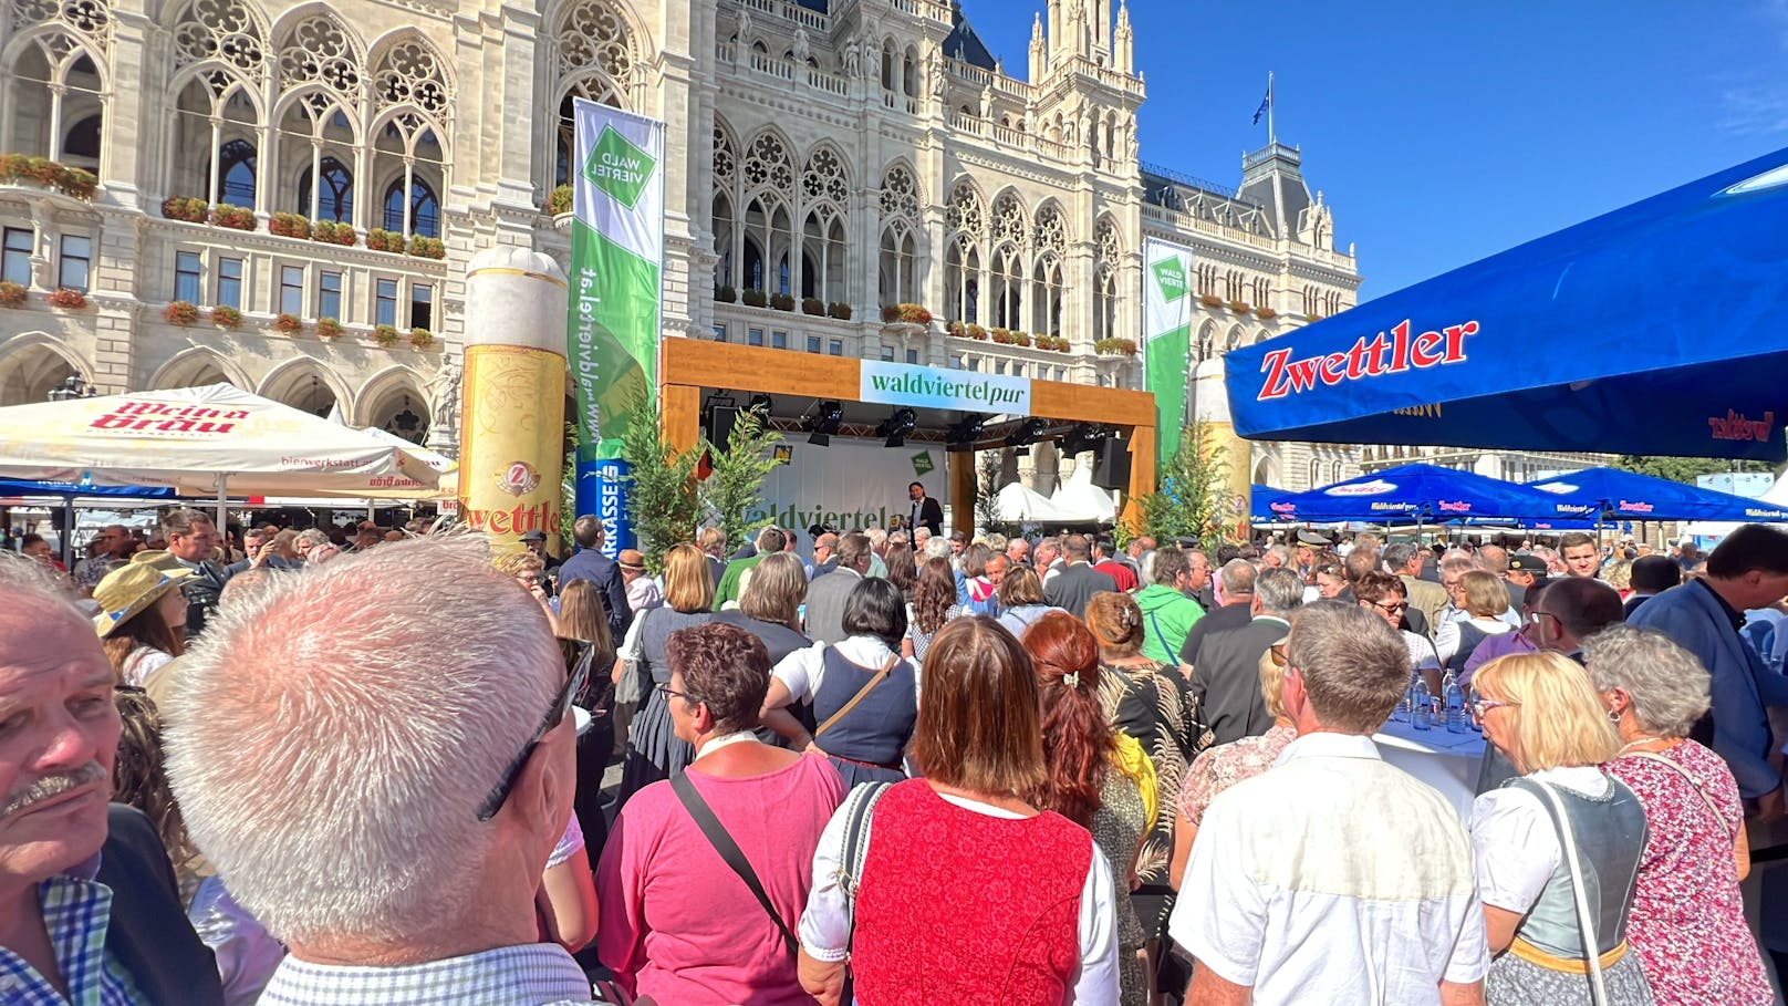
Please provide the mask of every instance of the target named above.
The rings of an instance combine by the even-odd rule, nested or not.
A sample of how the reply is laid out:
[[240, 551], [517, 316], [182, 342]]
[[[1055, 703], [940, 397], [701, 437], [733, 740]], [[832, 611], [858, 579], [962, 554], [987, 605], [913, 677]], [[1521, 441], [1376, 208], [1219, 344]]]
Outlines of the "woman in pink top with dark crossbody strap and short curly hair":
[[[758, 743], [769, 691], [763, 643], [726, 623], [670, 634], [665, 693], [676, 736], [696, 746], [685, 777], [744, 852], [774, 909], [751, 893], [690, 816], [672, 782], [640, 789], [597, 865], [597, 956], [629, 993], [662, 1004], [814, 1002], [796, 974], [794, 933], [814, 881], [819, 832], [844, 782], [819, 754]], [[778, 925], [780, 920], [780, 925]]]

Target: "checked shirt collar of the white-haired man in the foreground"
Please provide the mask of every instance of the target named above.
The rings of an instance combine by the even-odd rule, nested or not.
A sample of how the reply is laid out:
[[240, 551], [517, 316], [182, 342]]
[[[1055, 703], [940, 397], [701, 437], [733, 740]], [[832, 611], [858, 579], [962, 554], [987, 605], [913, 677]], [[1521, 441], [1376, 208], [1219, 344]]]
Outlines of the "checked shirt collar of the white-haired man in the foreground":
[[402, 967], [313, 965], [288, 956], [259, 1006], [583, 1006], [590, 979], [561, 947], [527, 943]]

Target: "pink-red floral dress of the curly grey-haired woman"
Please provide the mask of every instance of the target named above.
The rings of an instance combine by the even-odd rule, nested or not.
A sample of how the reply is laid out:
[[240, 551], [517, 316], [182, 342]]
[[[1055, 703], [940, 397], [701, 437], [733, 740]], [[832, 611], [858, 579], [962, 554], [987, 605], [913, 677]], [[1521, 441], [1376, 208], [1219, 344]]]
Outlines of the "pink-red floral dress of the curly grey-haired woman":
[[1627, 942], [1657, 1006], [1768, 1006], [1774, 995], [1745, 925], [1733, 863], [1745, 820], [1738, 782], [1720, 755], [1695, 741], [1657, 755], [1688, 779], [1634, 754], [1607, 764], [1640, 798], [1650, 827]]

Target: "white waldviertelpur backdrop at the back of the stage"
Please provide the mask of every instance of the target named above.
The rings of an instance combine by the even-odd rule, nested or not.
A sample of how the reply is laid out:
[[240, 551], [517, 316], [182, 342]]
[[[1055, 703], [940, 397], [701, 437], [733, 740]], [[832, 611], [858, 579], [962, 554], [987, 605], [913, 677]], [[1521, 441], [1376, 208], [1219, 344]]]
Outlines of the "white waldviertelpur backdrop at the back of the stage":
[[924, 483], [928, 496], [948, 499], [942, 444], [885, 448], [881, 440], [833, 437], [815, 448], [806, 437], [783, 440], [790, 451], [763, 480], [755, 508], [746, 516], [799, 532], [799, 548], [810, 553], [806, 533], [814, 524], [835, 532], [885, 528], [889, 517], [907, 517], [912, 503], [907, 485]]

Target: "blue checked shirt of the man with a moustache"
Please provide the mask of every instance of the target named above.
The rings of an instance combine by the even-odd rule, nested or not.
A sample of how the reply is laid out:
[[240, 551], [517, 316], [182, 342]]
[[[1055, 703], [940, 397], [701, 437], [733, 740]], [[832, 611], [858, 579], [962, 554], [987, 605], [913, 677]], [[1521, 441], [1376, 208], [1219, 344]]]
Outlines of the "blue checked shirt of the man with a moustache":
[[[95, 861], [97, 863], [97, 861]], [[98, 881], [57, 875], [38, 884], [43, 927], [68, 997], [25, 958], [0, 947], [0, 1002], [7, 1006], [152, 1006], [131, 976], [105, 954], [111, 888]]]

